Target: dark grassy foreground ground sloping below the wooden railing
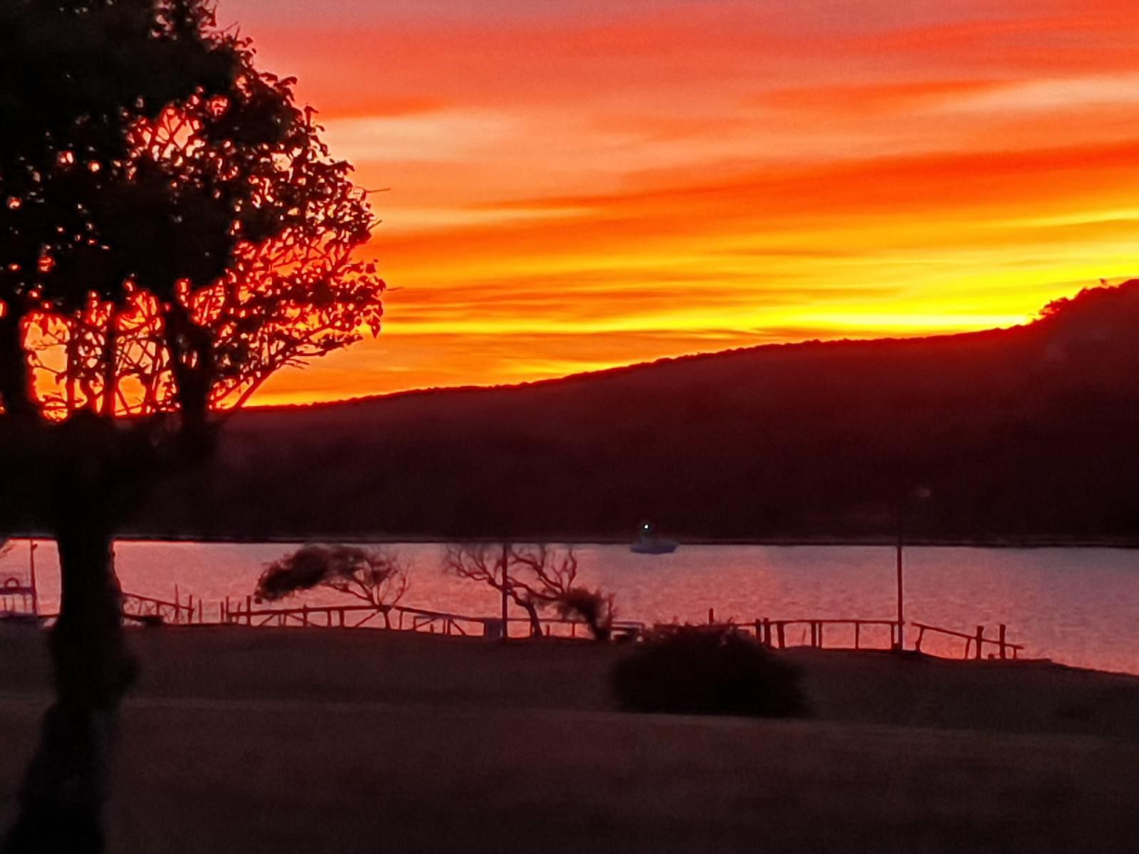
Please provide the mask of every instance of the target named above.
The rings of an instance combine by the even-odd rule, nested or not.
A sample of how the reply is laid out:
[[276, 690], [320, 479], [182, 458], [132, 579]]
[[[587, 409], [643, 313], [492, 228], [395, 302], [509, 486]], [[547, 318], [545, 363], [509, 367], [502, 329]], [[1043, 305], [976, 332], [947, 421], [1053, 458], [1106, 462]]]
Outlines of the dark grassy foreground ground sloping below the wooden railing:
[[[122, 852], [1132, 852], [1139, 679], [792, 652], [801, 722], [632, 715], [628, 650], [155, 630], [112, 806]], [[47, 703], [0, 633], [0, 819]]]

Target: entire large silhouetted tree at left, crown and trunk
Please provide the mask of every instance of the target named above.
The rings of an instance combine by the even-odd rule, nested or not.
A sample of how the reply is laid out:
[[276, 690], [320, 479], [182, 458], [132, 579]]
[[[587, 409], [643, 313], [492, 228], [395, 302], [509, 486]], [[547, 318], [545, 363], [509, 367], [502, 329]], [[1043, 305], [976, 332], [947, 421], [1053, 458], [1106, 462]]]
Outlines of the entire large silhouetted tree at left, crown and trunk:
[[54, 534], [57, 699], [5, 849], [99, 851], [136, 665], [112, 542], [215, 410], [378, 331], [372, 225], [206, 0], [0, 7], [0, 524]]

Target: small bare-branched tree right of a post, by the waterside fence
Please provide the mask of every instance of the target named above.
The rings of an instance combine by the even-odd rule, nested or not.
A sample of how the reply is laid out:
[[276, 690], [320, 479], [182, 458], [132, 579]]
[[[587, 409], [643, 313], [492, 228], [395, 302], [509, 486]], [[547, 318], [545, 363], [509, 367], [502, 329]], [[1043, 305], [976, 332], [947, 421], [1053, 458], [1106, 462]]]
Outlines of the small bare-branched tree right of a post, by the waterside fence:
[[[505, 563], [505, 566], [503, 566]], [[526, 611], [530, 633], [539, 637], [539, 610], [581, 617], [595, 638], [606, 639], [613, 621], [613, 596], [577, 585], [577, 556], [539, 545], [452, 545], [443, 558], [450, 574], [487, 584]]]

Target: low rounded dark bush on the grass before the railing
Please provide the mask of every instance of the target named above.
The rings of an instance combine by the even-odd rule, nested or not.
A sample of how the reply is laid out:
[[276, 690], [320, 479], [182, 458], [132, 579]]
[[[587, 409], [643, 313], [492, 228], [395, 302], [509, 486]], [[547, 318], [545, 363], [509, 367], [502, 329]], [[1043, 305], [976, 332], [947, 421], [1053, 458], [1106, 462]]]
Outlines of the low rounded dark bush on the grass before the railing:
[[806, 715], [796, 667], [735, 630], [681, 626], [617, 663], [613, 689], [633, 712]]

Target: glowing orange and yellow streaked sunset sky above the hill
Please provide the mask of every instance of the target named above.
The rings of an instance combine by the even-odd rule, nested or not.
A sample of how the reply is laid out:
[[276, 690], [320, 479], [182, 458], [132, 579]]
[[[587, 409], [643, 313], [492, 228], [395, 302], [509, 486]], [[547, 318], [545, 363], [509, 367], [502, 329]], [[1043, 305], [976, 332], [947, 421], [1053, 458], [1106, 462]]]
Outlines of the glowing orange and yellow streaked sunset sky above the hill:
[[[616, 10], [615, 10], [616, 9]], [[1123, 0], [220, 0], [384, 223], [259, 403], [1007, 326], [1139, 272]]]

